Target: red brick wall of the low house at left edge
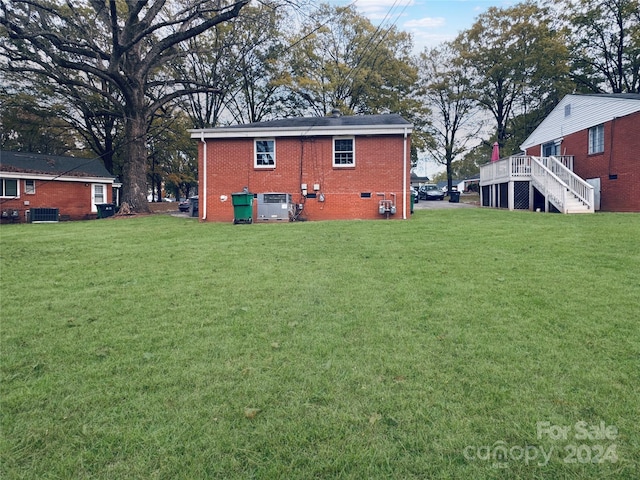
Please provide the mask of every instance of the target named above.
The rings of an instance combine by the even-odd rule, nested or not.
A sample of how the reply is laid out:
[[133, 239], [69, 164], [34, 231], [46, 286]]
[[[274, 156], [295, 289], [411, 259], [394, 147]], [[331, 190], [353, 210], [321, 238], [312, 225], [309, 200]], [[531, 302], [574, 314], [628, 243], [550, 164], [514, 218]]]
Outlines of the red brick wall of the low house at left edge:
[[[25, 212], [30, 208], [57, 208], [62, 220], [96, 218], [96, 213], [91, 212], [92, 187], [90, 183], [36, 180], [35, 194], [25, 193], [24, 180], [19, 180], [19, 183], [20, 197], [0, 199], [0, 210], [18, 210], [20, 222], [25, 221]], [[105, 185], [107, 194], [105, 203], [111, 203], [111, 185]], [[29, 204], [25, 205], [25, 202], [29, 202]]]

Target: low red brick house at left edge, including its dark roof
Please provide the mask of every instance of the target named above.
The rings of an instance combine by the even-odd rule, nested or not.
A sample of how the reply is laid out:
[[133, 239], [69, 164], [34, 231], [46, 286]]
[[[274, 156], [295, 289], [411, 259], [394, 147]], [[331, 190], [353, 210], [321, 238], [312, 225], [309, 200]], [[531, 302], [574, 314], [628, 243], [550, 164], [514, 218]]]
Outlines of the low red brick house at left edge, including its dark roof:
[[25, 222], [34, 209], [57, 209], [61, 220], [96, 218], [112, 203], [115, 178], [100, 159], [0, 151], [0, 219]]

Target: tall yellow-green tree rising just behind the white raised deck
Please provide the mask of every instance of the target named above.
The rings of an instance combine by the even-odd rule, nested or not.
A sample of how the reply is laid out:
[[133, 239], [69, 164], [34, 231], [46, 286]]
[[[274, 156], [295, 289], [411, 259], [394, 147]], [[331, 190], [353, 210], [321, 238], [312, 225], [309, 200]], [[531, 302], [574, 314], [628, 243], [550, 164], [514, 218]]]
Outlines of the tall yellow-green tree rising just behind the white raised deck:
[[532, 1], [489, 8], [455, 45], [501, 147], [514, 135], [516, 117], [547, 109], [571, 89], [565, 39], [548, 9]]

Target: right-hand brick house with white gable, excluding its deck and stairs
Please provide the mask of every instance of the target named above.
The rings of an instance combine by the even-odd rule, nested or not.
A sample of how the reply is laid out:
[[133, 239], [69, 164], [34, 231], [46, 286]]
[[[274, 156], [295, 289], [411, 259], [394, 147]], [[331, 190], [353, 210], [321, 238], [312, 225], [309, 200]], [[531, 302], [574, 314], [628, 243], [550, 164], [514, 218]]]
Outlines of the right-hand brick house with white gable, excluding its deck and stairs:
[[640, 212], [640, 94], [567, 95], [521, 148], [572, 156], [573, 172], [594, 186], [596, 210]]

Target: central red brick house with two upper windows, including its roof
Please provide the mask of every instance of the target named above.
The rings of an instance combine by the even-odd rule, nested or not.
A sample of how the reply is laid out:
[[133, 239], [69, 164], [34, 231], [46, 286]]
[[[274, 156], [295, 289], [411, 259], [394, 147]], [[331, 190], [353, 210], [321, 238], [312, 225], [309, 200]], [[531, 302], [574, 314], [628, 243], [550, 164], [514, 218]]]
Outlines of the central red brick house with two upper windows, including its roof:
[[[291, 195], [290, 211], [305, 220], [408, 218], [411, 132], [400, 115], [336, 111], [192, 130], [200, 219], [233, 221], [232, 194], [245, 188], [255, 194], [256, 221], [271, 220], [260, 212], [268, 193]], [[381, 202], [393, 208], [381, 214]]]

